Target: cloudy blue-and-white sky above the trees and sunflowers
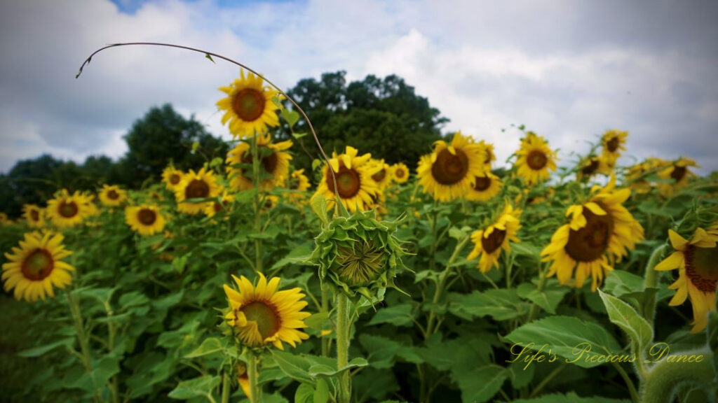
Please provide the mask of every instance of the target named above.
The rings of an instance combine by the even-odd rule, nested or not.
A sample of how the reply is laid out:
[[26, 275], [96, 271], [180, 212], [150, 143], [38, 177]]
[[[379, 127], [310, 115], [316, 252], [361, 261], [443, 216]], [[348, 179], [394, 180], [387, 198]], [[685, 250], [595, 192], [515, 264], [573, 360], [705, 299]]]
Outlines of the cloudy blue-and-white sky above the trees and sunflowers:
[[511, 124], [563, 163], [620, 128], [631, 155], [690, 156], [706, 173], [718, 169], [716, 21], [715, 1], [2, 1], [0, 172], [41, 153], [121, 156], [132, 122], [167, 102], [226, 136], [214, 104], [232, 65], [126, 47], [75, 80], [94, 49], [152, 41], [225, 54], [285, 88], [336, 70], [400, 75], [451, 120], [444, 131], [493, 141], [500, 160], [518, 145]]

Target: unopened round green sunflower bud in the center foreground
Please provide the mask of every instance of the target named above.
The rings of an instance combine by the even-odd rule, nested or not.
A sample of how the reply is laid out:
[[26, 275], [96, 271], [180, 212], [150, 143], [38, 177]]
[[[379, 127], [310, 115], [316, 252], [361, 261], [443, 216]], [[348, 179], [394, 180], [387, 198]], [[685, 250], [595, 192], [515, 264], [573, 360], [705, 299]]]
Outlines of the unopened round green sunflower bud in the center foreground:
[[378, 221], [373, 211], [358, 211], [328, 222], [314, 239], [310, 259], [319, 266], [322, 285], [354, 301], [361, 295], [371, 300], [383, 288], [399, 290], [394, 284], [396, 272], [409, 270], [401, 262], [406, 252], [394, 236], [402, 219]]

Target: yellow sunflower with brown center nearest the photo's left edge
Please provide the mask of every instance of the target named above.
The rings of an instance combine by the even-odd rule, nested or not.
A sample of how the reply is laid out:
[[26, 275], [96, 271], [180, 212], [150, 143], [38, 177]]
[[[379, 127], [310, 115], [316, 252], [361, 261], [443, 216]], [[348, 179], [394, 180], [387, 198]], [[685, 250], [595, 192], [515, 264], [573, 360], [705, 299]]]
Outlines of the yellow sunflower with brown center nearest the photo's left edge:
[[69, 256], [69, 250], [62, 245], [62, 234], [55, 232], [31, 232], [13, 247], [12, 253], [6, 253], [9, 262], [2, 265], [2, 280], [6, 291], [15, 289], [15, 299], [27, 301], [45, 300], [47, 295], [55, 297], [53, 286], [65, 288], [73, 278], [70, 275], [75, 267], [62, 262]]

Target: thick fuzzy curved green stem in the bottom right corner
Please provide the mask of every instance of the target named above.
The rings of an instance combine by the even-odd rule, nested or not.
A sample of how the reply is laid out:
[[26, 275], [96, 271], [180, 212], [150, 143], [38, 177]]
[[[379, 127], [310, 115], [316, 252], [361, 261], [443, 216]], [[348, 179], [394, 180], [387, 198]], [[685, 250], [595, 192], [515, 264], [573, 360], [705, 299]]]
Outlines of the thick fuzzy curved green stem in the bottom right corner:
[[[694, 362], [687, 362], [689, 357]], [[695, 362], [701, 356], [701, 361]], [[712, 366], [713, 354], [709, 350], [696, 351], [690, 354], [676, 354], [672, 361], [664, 359], [654, 365], [643, 385], [641, 385], [641, 402], [643, 403], [670, 403], [680, 384], [696, 384], [704, 387], [707, 393], [715, 385], [716, 372]]]

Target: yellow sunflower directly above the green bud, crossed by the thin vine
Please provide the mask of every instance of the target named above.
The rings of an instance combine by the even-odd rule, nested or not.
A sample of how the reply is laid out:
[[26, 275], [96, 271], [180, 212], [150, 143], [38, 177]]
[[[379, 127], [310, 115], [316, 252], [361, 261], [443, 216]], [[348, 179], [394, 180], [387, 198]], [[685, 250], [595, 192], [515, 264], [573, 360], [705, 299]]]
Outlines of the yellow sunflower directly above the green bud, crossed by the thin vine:
[[342, 204], [351, 212], [366, 211], [374, 205], [373, 196], [381, 191], [372, 176], [378, 172], [378, 167], [369, 163], [371, 154], [358, 156], [359, 151], [347, 146], [345, 152], [338, 155], [334, 153], [322, 169], [322, 181], [317, 185], [312, 199], [320, 195], [327, 199], [327, 209], [335, 206], [334, 179], [330, 169], [334, 171], [337, 181], [337, 193]]

